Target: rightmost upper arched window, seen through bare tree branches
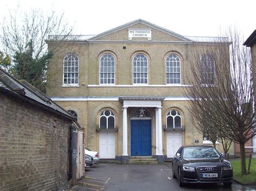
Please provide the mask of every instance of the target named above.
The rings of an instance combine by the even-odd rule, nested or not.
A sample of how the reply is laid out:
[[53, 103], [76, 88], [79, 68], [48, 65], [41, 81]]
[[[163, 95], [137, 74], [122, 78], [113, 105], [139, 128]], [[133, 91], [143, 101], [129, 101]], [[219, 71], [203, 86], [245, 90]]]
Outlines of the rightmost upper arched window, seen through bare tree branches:
[[[204, 65], [202, 65], [202, 62], [204, 62], [203, 61], [203, 59], [204, 59], [204, 56], [207, 56], [207, 58], [206, 58], [206, 67], [205, 67], [205, 63], [204, 63]], [[209, 57], [209, 58], [208, 58]], [[210, 61], [208, 61], [208, 60], [210, 60]], [[211, 61], [212, 60], [212, 61]], [[212, 63], [213, 62], [213, 63]], [[208, 68], [208, 65], [210, 65], [211, 66], [211, 70], [213, 70], [213, 72], [209, 72], [209, 71], [211, 71], [211, 70], [205, 70], [206, 68]], [[203, 66], [203, 67], [202, 67]], [[202, 79], [201, 79], [201, 84], [203, 85], [203, 86], [206, 86], [206, 87], [208, 87], [208, 86], [214, 86], [215, 85], [215, 79], [216, 79], [216, 74], [215, 74], [215, 61], [214, 61], [214, 57], [211, 55], [211, 54], [203, 54], [202, 56], [201, 56], [201, 58], [200, 58], [200, 69], [201, 69], [201, 76], [202, 76]], [[204, 83], [203, 83], [203, 77], [208, 77], [209, 76], [209, 74], [211, 75], [211, 76], [214, 76], [214, 79], [212, 79], [213, 80], [213, 83], [205, 83], [205, 81], [204, 81]], [[214, 74], [214, 75], [212, 75], [212, 74]]]

